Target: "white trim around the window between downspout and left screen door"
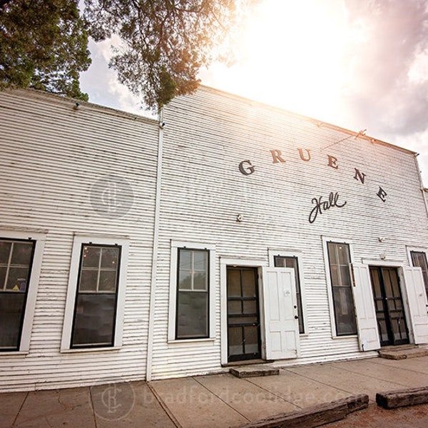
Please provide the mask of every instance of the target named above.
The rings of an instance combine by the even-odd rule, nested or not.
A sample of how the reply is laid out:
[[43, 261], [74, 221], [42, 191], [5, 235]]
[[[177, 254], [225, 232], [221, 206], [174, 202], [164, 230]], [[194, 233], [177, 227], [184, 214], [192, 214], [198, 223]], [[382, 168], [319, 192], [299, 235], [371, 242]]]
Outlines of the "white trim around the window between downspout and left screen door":
[[[175, 339], [175, 318], [177, 312], [177, 262], [178, 249], [187, 248], [189, 250], [208, 250], [209, 251], [209, 287], [208, 299], [208, 322], [209, 336], [195, 339]], [[170, 259], [170, 290], [169, 290], [169, 313], [168, 313], [168, 343], [188, 343], [188, 342], [207, 342], [215, 340], [215, 245], [205, 243], [195, 243], [181, 240], [171, 240], [171, 259]]]

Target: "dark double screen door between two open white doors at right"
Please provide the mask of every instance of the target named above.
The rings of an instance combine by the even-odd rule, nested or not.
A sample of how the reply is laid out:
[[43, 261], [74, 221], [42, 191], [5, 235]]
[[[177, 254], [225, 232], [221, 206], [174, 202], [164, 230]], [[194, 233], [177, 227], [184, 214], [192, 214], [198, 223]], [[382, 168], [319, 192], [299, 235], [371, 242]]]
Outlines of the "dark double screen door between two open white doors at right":
[[370, 266], [380, 345], [409, 343], [396, 267]]

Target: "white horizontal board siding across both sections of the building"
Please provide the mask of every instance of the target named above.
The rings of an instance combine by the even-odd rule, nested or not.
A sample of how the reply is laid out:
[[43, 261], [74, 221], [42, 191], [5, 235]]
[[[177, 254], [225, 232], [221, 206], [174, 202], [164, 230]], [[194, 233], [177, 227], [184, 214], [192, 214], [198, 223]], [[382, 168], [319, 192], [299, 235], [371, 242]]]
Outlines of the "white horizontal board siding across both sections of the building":
[[[74, 103], [35, 91], [0, 92], [0, 228], [47, 230], [30, 350], [0, 354], [0, 390], [146, 375], [158, 123], [89, 103], [76, 111]], [[349, 241], [354, 263], [409, 265], [407, 248], [428, 248], [414, 153], [205, 87], [175, 98], [163, 121], [153, 379], [225, 370], [220, 258], [268, 266], [271, 248], [300, 251], [306, 305], [300, 357], [275, 364], [375, 355], [360, 352], [356, 336], [332, 337], [322, 239]], [[298, 148], [310, 150], [311, 160], [302, 161]], [[272, 163], [270, 150], [280, 150], [286, 162]], [[327, 155], [337, 158], [337, 169]], [[252, 175], [238, 170], [246, 160]], [[364, 184], [355, 168], [366, 174]], [[122, 218], [104, 218], [91, 207], [91, 185], [108, 174], [133, 188]], [[347, 205], [310, 224], [312, 198], [330, 192]], [[129, 237], [120, 350], [59, 351], [74, 233]], [[215, 245], [214, 340], [168, 342], [171, 240]]]

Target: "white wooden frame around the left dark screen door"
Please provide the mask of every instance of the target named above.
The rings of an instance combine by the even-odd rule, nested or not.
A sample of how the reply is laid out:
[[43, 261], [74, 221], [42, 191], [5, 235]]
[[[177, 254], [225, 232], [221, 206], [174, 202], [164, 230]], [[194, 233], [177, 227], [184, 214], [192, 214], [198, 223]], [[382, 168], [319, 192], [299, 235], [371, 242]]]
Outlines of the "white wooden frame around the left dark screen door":
[[[228, 266], [236, 267], [256, 267], [259, 278], [262, 276], [262, 268], [267, 267], [266, 260], [260, 259], [240, 259], [220, 257], [220, 362], [221, 365], [228, 365]], [[265, 311], [263, 296], [263, 281], [258, 280], [259, 292], [259, 314], [260, 314], [260, 342], [262, 359], [266, 359], [265, 341]]]

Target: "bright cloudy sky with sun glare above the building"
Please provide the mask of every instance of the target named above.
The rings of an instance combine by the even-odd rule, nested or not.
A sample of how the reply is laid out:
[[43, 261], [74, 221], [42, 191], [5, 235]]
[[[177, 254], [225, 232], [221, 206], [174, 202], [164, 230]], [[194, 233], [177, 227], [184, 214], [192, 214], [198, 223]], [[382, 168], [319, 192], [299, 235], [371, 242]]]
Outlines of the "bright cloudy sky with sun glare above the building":
[[[108, 69], [112, 39], [90, 43], [89, 101], [147, 115]], [[263, 0], [236, 35], [238, 61], [205, 86], [419, 153], [428, 187], [428, 0]]]

